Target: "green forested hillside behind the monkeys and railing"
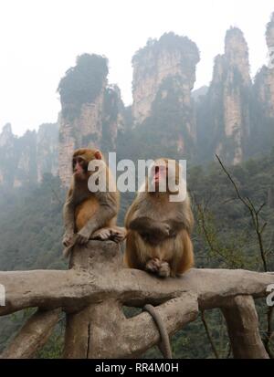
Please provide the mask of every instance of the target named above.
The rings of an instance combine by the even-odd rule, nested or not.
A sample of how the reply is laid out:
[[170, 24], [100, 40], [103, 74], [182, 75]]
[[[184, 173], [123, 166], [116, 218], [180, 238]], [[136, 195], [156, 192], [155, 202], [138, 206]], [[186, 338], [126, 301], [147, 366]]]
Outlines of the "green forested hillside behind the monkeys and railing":
[[[258, 160], [229, 168], [240, 193], [258, 208], [265, 203], [260, 218], [267, 223], [264, 242], [269, 270], [274, 269], [274, 150]], [[195, 212], [196, 267], [247, 268], [263, 270], [258, 240], [247, 209], [237, 200], [235, 190], [219, 164], [196, 166], [188, 171], [188, 188]], [[37, 187], [14, 192], [1, 191], [0, 196], [0, 266], [1, 270], [66, 268], [61, 256], [63, 232], [61, 208], [64, 191], [57, 178], [47, 174]], [[121, 195], [122, 224], [133, 194]], [[208, 240], [210, 243], [208, 243]], [[266, 333], [266, 306], [258, 305], [261, 333]], [[27, 313], [26, 313], [27, 315]], [[0, 319], [0, 349], [5, 346], [26, 319], [21, 313]], [[227, 330], [219, 310], [207, 311], [205, 317], [220, 357], [227, 357]], [[62, 322], [63, 323], [63, 322]], [[60, 357], [63, 325], [38, 357]], [[196, 319], [174, 336], [174, 357], [211, 358], [214, 354], [206, 338], [201, 319]], [[159, 357], [149, 351], [146, 357]]]

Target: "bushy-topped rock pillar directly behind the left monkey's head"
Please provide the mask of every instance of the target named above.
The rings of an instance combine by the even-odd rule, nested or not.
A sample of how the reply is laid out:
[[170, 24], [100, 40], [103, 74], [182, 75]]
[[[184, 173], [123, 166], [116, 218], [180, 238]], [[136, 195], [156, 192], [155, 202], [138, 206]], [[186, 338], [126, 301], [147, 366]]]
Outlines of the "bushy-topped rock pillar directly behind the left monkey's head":
[[84, 54], [60, 81], [58, 165], [65, 186], [71, 177], [70, 160], [75, 149], [110, 152], [116, 148], [117, 131], [123, 127], [123, 105], [120, 90], [108, 85], [107, 76], [106, 58]]

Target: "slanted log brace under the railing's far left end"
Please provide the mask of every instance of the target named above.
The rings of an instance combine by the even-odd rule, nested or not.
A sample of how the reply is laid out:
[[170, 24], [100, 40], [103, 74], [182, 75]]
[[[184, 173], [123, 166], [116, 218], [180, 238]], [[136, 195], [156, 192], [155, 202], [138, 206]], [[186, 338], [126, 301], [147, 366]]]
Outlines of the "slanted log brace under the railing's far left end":
[[58, 322], [60, 309], [37, 312], [26, 321], [0, 359], [30, 359], [42, 348]]

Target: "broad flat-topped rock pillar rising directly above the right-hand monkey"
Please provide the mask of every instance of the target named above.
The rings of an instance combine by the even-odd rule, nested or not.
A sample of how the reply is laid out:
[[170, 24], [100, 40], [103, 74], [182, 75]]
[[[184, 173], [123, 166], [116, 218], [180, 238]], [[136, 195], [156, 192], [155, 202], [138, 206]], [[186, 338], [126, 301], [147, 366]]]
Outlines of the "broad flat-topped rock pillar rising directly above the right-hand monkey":
[[199, 59], [195, 43], [174, 33], [149, 40], [132, 58], [134, 127], [146, 127], [160, 145], [184, 154], [195, 145], [191, 90]]

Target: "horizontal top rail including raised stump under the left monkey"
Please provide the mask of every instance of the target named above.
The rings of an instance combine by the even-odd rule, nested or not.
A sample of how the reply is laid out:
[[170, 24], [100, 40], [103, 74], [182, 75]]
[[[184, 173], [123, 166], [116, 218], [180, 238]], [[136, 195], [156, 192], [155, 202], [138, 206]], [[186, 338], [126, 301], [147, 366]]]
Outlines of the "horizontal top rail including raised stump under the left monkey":
[[79, 311], [107, 298], [142, 307], [161, 304], [185, 291], [197, 295], [200, 309], [213, 309], [237, 295], [265, 297], [273, 283], [274, 273], [240, 269], [193, 268], [181, 278], [163, 280], [122, 267], [119, 246], [113, 242], [91, 241], [88, 247], [76, 248], [68, 271], [0, 272], [6, 292], [0, 315], [30, 307]]

